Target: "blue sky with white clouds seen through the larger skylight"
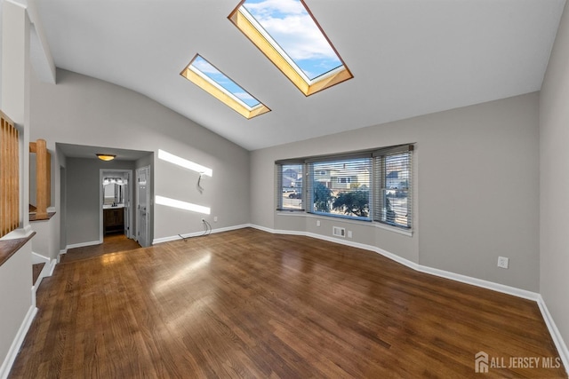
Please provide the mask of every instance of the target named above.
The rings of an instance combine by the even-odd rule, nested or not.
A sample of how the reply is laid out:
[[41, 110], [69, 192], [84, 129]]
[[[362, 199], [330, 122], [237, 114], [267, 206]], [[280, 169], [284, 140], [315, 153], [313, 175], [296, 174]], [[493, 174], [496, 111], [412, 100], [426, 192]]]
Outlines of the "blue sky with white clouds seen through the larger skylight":
[[341, 66], [300, 0], [246, 0], [243, 6], [310, 80]]

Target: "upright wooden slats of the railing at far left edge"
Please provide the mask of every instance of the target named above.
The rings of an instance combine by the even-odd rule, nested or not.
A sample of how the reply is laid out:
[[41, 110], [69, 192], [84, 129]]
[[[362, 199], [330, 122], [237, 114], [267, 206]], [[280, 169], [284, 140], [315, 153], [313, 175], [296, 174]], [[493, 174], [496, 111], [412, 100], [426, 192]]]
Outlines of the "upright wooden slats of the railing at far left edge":
[[0, 112], [0, 237], [20, 225], [20, 134]]

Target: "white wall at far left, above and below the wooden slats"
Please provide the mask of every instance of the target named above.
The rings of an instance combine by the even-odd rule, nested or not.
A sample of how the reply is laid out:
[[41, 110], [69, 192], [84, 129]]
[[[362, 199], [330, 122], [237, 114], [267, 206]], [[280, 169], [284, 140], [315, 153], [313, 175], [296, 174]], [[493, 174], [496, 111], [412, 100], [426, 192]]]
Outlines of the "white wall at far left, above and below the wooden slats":
[[[20, 129], [20, 219], [28, 227], [28, 143], [29, 143], [29, 20], [19, 5], [2, 8], [2, 110]], [[21, 231], [18, 231], [21, 232]], [[0, 265], [0, 377], [7, 375], [18, 341], [28, 328], [35, 310], [31, 291], [31, 243], [28, 241]]]

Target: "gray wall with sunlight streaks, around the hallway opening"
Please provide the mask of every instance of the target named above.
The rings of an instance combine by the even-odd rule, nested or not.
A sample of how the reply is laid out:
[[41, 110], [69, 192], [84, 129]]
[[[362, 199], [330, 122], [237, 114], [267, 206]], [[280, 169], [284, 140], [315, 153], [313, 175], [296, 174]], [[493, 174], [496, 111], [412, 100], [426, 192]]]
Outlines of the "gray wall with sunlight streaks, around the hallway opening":
[[[153, 152], [156, 195], [212, 208], [208, 217], [155, 206], [154, 238], [202, 231], [202, 217], [209, 219], [214, 228], [249, 222], [249, 152], [244, 148], [134, 91], [65, 70], [58, 70], [57, 75], [57, 85], [32, 80], [33, 139], [46, 139], [51, 150], [60, 142]], [[158, 149], [212, 168], [213, 177], [203, 181], [204, 193], [196, 190], [196, 172], [159, 160]], [[56, 162], [55, 167], [59, 164]], [[60, 171], [56, 174], [57, 185]], [[76, 182], [75, 175], [76, 171], [68, 167], [67, 182]], [[59, 210], [60, 186], [55, 192]], [[75, 227], [71, 226], [75, 223], [72, 214], [84, 217], [83, 225], [89, 225], [88, 232], [68, 229], [68, 244], [98, 240], [91, 232], [94, 220], [70, 207], [70, 188], [67, 196], [68, 227]], [[219, 217], [218, 223], [212, 222], [213, 216]]]

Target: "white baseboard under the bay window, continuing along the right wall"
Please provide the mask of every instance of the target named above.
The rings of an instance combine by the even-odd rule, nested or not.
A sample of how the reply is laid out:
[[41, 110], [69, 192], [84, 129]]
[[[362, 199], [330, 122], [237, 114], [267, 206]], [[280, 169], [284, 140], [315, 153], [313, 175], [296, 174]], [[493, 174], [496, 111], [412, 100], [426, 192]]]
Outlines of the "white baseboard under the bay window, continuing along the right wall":
[[405, 265], [405, 266], [407, 266], [407, 267], [409, 267], [415, 271], [418, 271], [418, 272], [425, 272], [425, 273], [428, 273], [430, 275], [435, 275], [435, 276], [438, 276], [441, 278], [460, 281], [461, 283], [470, 284], [472, 286], [491, 289], [493, 291], [501, 292], [501, 293], [504, 293], [507, 295], [517, 296], [517, 297], [525, 298], [528, 300], [533, 300], [534, 302], [536, 302], [538, 304], [538, 306], [540, 308], [541, 315], [543, 316], [543, 320], [545, 321], [545, 324], [549, 330], [549, 335], [553, 339], [553, 342], [555, 343], [555, 345], [557, 347], [557, 352], [559, 353], [559, 357], [563, 361], [563, 364], [565, 366], [565, 370], [567, 371], [567, 375], [569, 375], [569, 350], [567, 349], [567, 345], [565, 344], [563, 336], [561, 336], [561, 334], [559, 333], [559, 329], [557, 328], [555, 321], [553, 320], [553, 318], [551, 317], [551, 314], [548, 311], [547, 305], [545, 304], [541, 295], [536, 293], [536, 292], [527, 291], [527, 290], [521, 289], [521, 288], [506, 286], [504, 284], [495, 283], [493, 281], [473, 278], [470, 276], [461, 275], [460, 273], [448, 272], [445, 270], [439, 270], [437, 268], [433, 268], [433, 267], [429, 267], [429, 266], [425, 266], [425, 265], [419, 265], [413, 261], [410, 261], [410, 260], [405, 259], [403, 257], [399, 257], [396, 254], [389, 253], [389, 251], [377, 248], [375, 246], [365, 245], [363, 243], [358, 243], [358, 242], [339, 239], [339, 238], [333, 238], [333, 237], [320, 235], [320, 234], [316, 234], [316, 233], [287, 231], [287, 230], [275, 230], [275, 229], [269, 229], [267, 227], [260, 226], [260, 225], [248, 225], [248, 226], [252, 227], [254, 229], [259, 229], [260, 231], [267, 232], [267, 233], [302, 235], [302, 236], [306, 236], [306, 237], [316, 238], [318, 240], [340, 243], [342, 245], [350, 246], [353, 248], [373, 251], [375, 253], [381, 254], [384, 257], [387, 257], [393, 261], [396, 261], [397, 263], [399, 263], [401, 265]]

